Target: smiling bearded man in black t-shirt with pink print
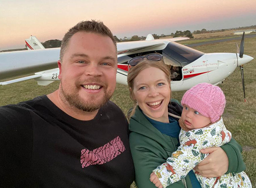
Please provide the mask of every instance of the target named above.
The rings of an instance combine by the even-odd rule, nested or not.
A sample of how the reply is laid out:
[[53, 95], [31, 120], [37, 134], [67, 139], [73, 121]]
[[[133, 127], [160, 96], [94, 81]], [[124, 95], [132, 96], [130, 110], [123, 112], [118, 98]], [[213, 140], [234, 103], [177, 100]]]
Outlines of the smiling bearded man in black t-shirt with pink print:
[[129, 187], [128, 123], [116, 87], [111, 31], [80, 22], [61, 43], [59, 88], [0, 107], [0, 187]]

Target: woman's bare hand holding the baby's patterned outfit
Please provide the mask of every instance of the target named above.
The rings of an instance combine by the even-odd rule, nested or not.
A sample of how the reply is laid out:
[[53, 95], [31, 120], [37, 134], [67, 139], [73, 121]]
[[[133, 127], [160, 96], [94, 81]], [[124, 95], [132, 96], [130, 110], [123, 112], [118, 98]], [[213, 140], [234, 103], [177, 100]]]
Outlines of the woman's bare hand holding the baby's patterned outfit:
[[214, 178], [222, 176], [228, 169], [228, 158], [224, 150], [220, 147], [212, 147], [200, 150], [200, 152], [209, 155], [201, 161], [194, 170], [203, 177]]

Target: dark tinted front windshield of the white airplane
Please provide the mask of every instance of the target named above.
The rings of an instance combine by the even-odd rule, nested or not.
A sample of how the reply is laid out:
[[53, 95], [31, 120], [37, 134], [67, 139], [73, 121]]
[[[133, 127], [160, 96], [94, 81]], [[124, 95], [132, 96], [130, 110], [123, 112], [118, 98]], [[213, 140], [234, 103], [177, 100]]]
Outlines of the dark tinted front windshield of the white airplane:
[[176, 42], [169, 42], [163, 50], [163, 55], [175, 64], [179, 62], [181, 67], [184, 67], [203, 56], [204, 53]]

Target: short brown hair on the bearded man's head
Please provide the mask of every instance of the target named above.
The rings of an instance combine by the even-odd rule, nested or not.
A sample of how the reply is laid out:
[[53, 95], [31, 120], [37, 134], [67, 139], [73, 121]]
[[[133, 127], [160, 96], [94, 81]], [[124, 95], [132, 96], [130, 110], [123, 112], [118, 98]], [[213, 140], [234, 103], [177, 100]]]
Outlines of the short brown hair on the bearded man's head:
[[74, 27], [70, 28], [69, 31], [64, 35], [61, 41], [61, 46], [60, 46], [60, 54], [59, 54], [60, 61], [62, 61], [65, 50], [67, 49], [67, 46], [69, 44], [70, 38], [77, 32], [92, 32], [92, 33], [98, 33], [105, 36], [109, 36], [117, 48], [117, 42], [111, 30], [107, 26], [105, 26], [103, 22], [95, 21], [95, 20], [81, 21], [78, 24], [76, 24]]

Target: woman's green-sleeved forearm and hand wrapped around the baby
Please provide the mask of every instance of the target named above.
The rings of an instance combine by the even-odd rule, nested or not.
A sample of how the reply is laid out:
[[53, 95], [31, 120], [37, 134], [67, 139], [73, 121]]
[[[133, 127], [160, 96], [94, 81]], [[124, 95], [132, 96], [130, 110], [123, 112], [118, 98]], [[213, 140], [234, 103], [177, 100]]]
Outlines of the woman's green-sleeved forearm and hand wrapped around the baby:
[[233, 138], [221, 147], [207, 148], [201, 152], [210, 154], [194, 170], [204, 177], [219, 177], [230, 172], [239, 173], [246, 169], [241, 155], [242, 147]]

